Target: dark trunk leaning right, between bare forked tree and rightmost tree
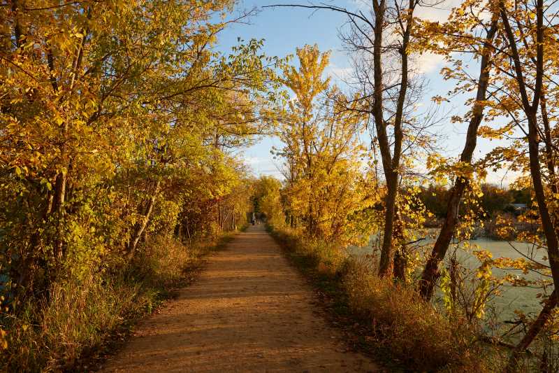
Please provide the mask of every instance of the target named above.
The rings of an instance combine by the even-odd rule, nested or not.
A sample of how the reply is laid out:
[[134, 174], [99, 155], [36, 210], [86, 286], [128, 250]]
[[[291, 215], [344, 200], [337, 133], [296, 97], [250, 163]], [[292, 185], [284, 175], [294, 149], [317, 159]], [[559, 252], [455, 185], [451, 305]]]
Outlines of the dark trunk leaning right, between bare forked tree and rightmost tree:
[[[491, 28], [489, 29], [486, 39], [484, 41], [483, 55], [481, 57], [481, 65], [479, 72], [479, 80], [477, 85], [476, 102], [472, 109], [472, 118], [467, 128], [466, 143], [460, 155], [460, 162], [471, 164], [472, 156], [477, 144], [477, 129], [484, 118], [484, 106], [482, 101], [486, 99], [489, 69], [491, 68], [491, 43], [495, 36], [498, 27], [497, 17], [493, 17]], [[451, 239], [454, 234], [456, 224], [458, 224], [458, 207], [460, 200], [464, 194], [464, 190], [469, 183], [469, 179], [465, 176], [458, 176], [454, 181], [451, 188], [449, 202], [447, 203], [447, 216], [444, 218], [444, 223], [433, 246], [433, 251], [426, 263], [421, 281], [419, 282], [419, 293], [425, 300], [430, 300], [433, 297], [433, 290], [435, 283], [439, 279], [439, 264], [447, 255]]]

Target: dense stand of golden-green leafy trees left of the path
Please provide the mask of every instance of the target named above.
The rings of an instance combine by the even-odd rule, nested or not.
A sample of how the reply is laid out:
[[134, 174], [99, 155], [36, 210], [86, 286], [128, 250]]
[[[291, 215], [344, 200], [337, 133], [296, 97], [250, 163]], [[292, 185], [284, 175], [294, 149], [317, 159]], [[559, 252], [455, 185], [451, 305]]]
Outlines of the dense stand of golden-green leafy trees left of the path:
[[44, 293], [110, 253], [132, 258], [159, 202], [193, 198], [194, 174], [217, 187], [214, 200], [237, 188], [228, 149], [261, 132], [277, 61], [259, 41], [212, 49], [231, 6], [0, 7], [2, 270], [13, 294]]

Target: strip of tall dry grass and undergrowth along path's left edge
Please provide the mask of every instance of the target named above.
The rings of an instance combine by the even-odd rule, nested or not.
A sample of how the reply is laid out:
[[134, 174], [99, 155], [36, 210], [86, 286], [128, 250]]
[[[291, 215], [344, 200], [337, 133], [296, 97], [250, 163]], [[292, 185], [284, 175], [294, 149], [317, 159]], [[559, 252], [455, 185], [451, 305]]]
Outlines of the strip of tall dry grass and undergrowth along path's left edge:
[[17, 317], [2, 316], [9, 332], [0, 369], [87, 370], [101, 358], [104, 347], [124, 339], [133, 323], [194, 276], [205, 253], [229, 237], [189, 247], [170, 237], [154, 237], [125, 272], [112, 273], [105, 267], [80, 283], [58, 281], [50, 299], [24, 304]]

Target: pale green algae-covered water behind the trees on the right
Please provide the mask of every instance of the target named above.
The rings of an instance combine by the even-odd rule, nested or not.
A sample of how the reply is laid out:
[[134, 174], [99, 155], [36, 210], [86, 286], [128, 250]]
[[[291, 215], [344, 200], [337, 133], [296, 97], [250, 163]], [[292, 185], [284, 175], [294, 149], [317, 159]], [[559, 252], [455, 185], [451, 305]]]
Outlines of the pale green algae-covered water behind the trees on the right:
[[[433, 247], [433, 239], [426, 239], [422, 241], [423, 244], [428, 245], [429, 248]], [[451, 245], [452, 246], [452, 245]], [[527, 255], [530, 258], [534, 258], [538, 262], [547, 265], [548, 261], [544, 258], [546, 257], [545, 250], [535, 249], [531, 244], [526, 244], [522, 242], [515, 241], [495, 241], [493, 239], [479, 238], [472, 239], [470, 241], [470, 248], [465, 249], [463, 246], [458, 245], [456, 249], [456, 258], [458, 261], [467, 268], [475, 270], [481, 264], [479, 260], [472, 254], [475, 250], [486, 250], [492, 253], [493, 258], [523, 258], [523, 255]], [[353, 247], [350, 248], [350, 253], [352, 255], [365, 255], [372, 253], [372, 246], [365, 246], [361, 248]], [[449, 253], [453, 252], [453, 248], [449, 248]], [[493, 268], [493, 275], [496, 277], [502, 277], [505, 274], [516, 274], [518, 276], [524, 276], [525, 279], [535, 281], [544, 278], [544, 276], [530, 272], [528, 274], [523, 274], [521, 271], [514, 269], [497, 269]], [[551, 278], [546, 278], [551, 280]], [[489, 307], [492, 307], [497, 311], [498, 318], [501, 321], [511, 320], [514, 318], [514, 311], [523, 311], [525, 314], [537, 314], [541, 309], [541, 304], [539, 304], [539, 298], [537, 294], [541, 293], [541, 289], [529, 288], [529, 287], [514, 287], [510, 285], [505, 285], [502, 287], [500, 295], [495, 297], [491, 302], [489, 302]]]

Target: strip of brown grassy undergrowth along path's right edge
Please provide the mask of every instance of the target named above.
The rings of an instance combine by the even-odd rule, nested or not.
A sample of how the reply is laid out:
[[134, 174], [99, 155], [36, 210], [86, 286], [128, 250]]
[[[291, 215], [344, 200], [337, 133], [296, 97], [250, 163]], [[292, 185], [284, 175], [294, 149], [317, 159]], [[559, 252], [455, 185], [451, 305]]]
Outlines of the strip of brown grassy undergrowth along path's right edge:
[[449, 319], [411, 286], [382, 279], [365, 260], [289, 228], [269, 232], [291, 262], [331, 300], [335, 317], [360, 325], [357, 346], [391, 371], [500, 372], [505, 355], [480, 342], [481, 331]]

